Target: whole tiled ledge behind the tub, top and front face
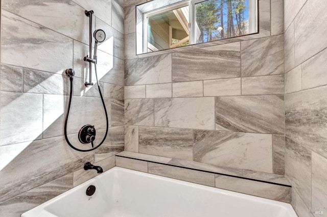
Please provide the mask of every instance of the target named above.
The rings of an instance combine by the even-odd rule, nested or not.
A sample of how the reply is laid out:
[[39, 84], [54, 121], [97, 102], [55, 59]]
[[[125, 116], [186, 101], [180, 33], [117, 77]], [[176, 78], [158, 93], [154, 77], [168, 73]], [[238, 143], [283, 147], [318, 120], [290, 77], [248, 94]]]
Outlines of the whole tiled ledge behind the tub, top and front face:
[[[192, 165], [192, 168], [186, 165]], [[116, 154], [116, 166], [275, 201], [291, 202], [292, 188], [287, 179], [281, 175], [244, 171], [128, 151]], [[237, 174], [235, 171], [239, 171], [239, 173]], [[251, 174], [244, 174], [249, 172]], [[258, 174], [268, 175], [270, 178], [258, 179], [255, 177], [259, 176]]]

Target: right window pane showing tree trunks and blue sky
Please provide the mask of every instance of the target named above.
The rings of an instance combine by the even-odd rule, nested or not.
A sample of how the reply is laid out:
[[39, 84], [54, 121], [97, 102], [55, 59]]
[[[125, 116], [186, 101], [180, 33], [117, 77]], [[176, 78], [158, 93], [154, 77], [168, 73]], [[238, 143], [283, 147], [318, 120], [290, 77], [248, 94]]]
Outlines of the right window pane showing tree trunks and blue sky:
[[207, 0], [197, 3], [196, 22], [200, 36], [196, 43], [249, 34], [249, 1]]

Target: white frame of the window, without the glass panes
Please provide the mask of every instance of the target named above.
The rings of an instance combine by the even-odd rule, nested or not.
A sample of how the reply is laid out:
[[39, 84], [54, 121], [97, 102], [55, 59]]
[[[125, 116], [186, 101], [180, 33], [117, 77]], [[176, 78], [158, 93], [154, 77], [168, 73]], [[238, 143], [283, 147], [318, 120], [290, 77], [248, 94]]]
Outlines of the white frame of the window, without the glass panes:
[[[139, 54], [143, 54], [143, 53], [149, 53], [148, 52], [148, 18], [154, 15], [159, 15], [161, 13], [165, 13], [167, 11], [172, 11], [178, 8], [182, 8], [182, 7], [186, 7], [189, 6], [189, 45], [195, 45], [195, 44], [200, 44], [200, 43], [196, 43], [195, 40], [195, 34], [196, 34], [196, 11], [195, 11], [195, 5], [201, 2], [205, 2], [208, 0], [184, 0], [184, 1], [180, 1], [177, 3], [174, 3], [172, 5], [168, 5], [168, 6], [163, 6], [161, 8], [158, 9], [154, 9], [148, 12], [144, 12], [143, 16], [142, 16], [142, 53], [137, 53], [137, 49], [136, 49], [136, 55]], [[150, 2], [147, 2], [150, 3]], [[145, 4], [147, 4], [145, 3]], [[137, 6], [136, 6], [136, 10], [137, 10]], [[256, 31], [255, 31], [256, 30]], [[249, 34], [246, 35], [241, 35], [241, 36], [235, 36], [235, 37], [229, 37], [229, 38], [236, 38], [236, 37], [242, 37], [242, 36], [247, 36], [247, 35], [251, 35], [251, 34], [257, 34], [259, 33], [259, 0], [249, 0]], [[136, 34], [137, 35], [137, 34]], [[224, 38], [224, 39], [228, 39], [228, 38]], [[223, 39], [217, 39], [217, 40], [212, 40], [212, 41], [219, 41], [219, 40], [223, 40]], [[136, 40], [137, 41], [137, 40]], [[207, 42], [212, 42], [212, 41], [207, 41]], [[201, 42], [201, 43], [207, 43], [207, 42]], [[186, 45], [186, 46], [189, 46]], [[137, 46], [137, 45], [136, 45]], [[168, 49], [173, 49], [173, 48], [168, 48]], [[160, 51], [160, 50], [158, 50]], [[152, 51], [155, 52], [155, 51]]]

